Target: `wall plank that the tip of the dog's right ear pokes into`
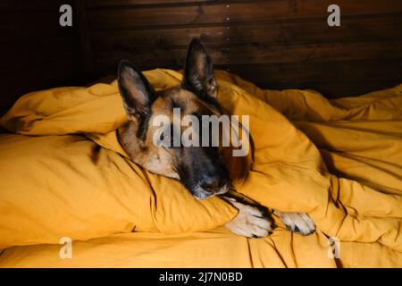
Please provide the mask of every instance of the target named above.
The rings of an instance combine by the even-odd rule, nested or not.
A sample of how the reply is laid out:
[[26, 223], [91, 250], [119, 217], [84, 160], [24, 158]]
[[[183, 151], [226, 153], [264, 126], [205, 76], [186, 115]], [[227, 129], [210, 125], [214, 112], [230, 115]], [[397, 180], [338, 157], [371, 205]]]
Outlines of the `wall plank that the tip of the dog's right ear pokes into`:
[[213, 27], [132, 29], [99, 31], [90, 34], [92, 45], [102, 47], [186, 46], [191, 38], [201, 38], [205, 46], [244, 43], [333, 43], [402, 39], [402, 14], [373, 18], [346, 18], [339, 29], [324, 21], [262, 22]]

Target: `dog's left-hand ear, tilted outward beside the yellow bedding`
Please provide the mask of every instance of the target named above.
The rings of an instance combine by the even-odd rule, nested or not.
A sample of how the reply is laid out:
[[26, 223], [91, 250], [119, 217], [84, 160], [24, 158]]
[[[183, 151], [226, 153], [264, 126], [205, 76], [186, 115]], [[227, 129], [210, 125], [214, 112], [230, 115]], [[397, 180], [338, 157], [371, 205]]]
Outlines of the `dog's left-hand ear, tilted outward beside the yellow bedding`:
[[129, 118], [138, 119], [151, 114], [151, 104], [155, 100], [156, 93], [142, 72], [129, 61], [121, 60], [117, 78]]

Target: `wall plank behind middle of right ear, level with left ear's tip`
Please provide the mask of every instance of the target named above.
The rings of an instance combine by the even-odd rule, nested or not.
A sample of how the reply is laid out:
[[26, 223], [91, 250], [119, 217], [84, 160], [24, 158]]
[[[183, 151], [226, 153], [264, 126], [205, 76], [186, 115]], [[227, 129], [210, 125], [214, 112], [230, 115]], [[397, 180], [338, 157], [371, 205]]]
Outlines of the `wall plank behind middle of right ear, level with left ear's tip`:
[[[373, 60], [402, 57], [402, 40], [330, 44], [243, 45], [209, 47], [214, 64], [300, 63], [336, 60]], [[169, 66], [184, 63], [186, 47], [109, 48], [94, 50], [98, 67], [114, 66], [122, 58], [138, 66]]]

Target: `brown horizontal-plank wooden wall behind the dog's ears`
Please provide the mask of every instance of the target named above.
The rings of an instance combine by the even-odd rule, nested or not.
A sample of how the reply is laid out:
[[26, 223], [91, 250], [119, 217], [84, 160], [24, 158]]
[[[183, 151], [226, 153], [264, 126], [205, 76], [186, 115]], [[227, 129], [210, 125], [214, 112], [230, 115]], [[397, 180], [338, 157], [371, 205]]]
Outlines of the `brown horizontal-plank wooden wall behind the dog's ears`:
[[[339, 4], [341, 26], [327, 25]], [[401, 0], [87, 0], [94, 71], [128, 58], [179, 69], [199, 37], [216, 66], [264, 88], [315, 88], [329, 97], [401, 82]]]

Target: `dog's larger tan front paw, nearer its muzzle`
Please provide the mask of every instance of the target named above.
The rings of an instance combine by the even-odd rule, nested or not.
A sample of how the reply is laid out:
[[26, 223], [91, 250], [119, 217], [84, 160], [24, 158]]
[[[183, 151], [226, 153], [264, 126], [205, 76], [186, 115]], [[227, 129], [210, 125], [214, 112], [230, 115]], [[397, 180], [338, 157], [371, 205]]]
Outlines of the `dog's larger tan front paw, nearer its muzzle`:
[[247, 238], [264, 238], [272, 233], [274, 227], [272, 217], [261, 206], [248, 206], [231, 201], [239, 209], [233, 220], [225, 224], [231, 232]]

